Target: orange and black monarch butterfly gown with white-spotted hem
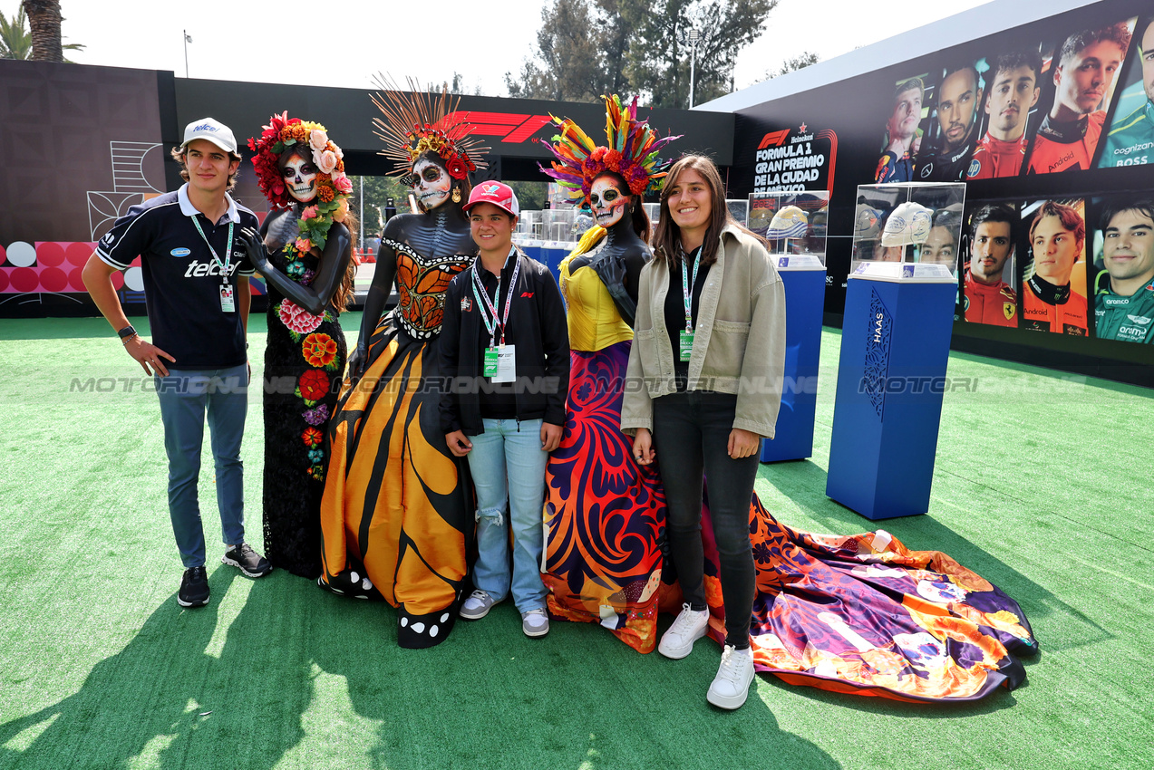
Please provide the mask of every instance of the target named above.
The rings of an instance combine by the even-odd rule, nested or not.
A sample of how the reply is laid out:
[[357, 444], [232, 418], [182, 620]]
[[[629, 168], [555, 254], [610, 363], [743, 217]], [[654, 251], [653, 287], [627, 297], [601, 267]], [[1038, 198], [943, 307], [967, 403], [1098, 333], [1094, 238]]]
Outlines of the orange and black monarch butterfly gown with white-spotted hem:
[[345, 383], [330, 423], [320, 583], [383, 598], [397, 607], [397, 643], [425, 648], [452, 629], [473, 531], [469, 466], [449, 453], [437, 414], [444, 292], [473, 256], [385, 242], [399, 302], [377, 322], [365, 375]]

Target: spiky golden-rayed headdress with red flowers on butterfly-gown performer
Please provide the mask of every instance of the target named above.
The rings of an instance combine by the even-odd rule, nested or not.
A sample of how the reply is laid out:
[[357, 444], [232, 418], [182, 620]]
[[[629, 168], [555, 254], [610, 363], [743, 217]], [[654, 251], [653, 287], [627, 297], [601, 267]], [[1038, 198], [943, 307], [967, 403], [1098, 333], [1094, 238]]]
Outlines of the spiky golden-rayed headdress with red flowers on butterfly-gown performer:
[[385, 149], [380, 154], [394, 161], [394, 174], [409, 174], [425, 152], [440, 156], [454, 179], [465, 179], [470, 172], [488, 167], [481, 156], [489, 148], [470, 136], [473, 126], [469, 113], [457, 112], [460, 97], [450, 97], [447, 88], [430, 93], [412, 80], [409, 93], [381, 75], [376, 82], [383, 92], [373, 95], [373, 104], [384, 118], [373, 119], [374, 133], [384, 141]]

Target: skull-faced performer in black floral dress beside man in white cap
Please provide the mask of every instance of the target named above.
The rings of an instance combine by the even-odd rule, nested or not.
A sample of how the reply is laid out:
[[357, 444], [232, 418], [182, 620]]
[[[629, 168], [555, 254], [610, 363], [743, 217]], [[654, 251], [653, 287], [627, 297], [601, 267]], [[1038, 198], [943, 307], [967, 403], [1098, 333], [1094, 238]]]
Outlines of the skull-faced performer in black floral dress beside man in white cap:
[[324, 126], [273, 115], [248, 139], [261, 191], [272, 204], [260, 233], [243, 234], [269, 292], [264, 349], [264, 548], [269, 561], [321, 574], [324, 433], [345, 368], [337, 316], [355, 264], [340, 148]]

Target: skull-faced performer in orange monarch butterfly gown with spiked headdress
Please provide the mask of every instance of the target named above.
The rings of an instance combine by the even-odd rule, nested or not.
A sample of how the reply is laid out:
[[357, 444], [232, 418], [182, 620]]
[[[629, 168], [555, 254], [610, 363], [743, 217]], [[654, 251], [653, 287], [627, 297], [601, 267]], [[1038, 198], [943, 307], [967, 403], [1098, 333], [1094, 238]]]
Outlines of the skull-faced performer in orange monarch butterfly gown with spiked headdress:
[[[373, 97], [382, 154], [412, 188], [419, 213], [385, 225], [349, 379], [329, 426], [331, 459], [321, 503], [322, 588], [397, 607], [397, 643], [449, 636], [473, 528], [469, 466], [454, 458], [439, 421], [437, 342], [449, 280], [477, 246], [462, 203], [487, 148], [470, 138], [456, 103], [398, 92]], [[398, 303], [385, 312], [396, 285]]]

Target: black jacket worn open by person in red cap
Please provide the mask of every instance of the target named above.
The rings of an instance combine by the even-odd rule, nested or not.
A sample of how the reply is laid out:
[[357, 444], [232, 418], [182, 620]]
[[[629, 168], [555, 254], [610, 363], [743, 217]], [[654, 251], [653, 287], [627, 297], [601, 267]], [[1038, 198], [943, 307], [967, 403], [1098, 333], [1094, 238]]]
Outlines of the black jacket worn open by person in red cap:
[[[512, 293], [505, 344], [517, 346], [517, 420], [544, 420], [565, 424], [565, 394], [569, 391], [569, 329], [561, 292], [549, 269], [517, 249], [520, 273]], [[497, 295], [502, 302], [509, 290], [514, 263], [501, 270]], [[444, 322], [441, 326], [441, 371], [451, 378], [441, 397], [441, 431], [462, 430], [466, 436], [485, 432], [481, 421], [480, 387], [488, 386], [481, 376], [478, 353], [481, 334], [488, 334], [473, 296], [473, 267], [454, 277], [444, 295]]]

